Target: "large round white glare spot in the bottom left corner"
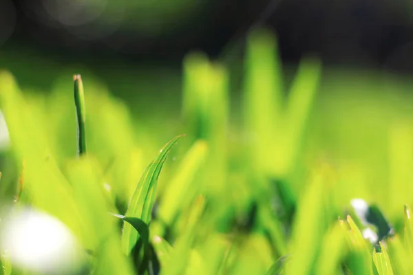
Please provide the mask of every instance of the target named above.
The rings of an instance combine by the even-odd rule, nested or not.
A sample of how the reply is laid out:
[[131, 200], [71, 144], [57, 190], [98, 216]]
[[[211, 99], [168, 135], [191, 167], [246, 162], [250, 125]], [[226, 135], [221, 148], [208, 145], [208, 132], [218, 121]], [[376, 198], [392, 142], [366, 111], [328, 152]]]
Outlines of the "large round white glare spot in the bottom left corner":
[[76, 274], [81, 267], [74, 236], [58, 219], [19, 210], [2, 221], [1, 247], [12, 264], [39, 274]]

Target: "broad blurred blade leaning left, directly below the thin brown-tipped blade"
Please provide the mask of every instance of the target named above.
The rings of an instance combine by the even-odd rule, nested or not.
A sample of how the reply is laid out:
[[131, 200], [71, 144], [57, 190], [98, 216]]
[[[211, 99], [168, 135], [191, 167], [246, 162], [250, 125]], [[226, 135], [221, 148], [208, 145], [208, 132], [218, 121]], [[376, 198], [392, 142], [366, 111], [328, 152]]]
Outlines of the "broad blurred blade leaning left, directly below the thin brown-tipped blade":
[[70, 162], [67, 170], [78, 206], [82, 207], [83, 218], [89, 225], [87, 236], [94, 242], [92, 250], [96, 250], [98, 263], [96, 273], [134, 274], [129, 259], [121, 250], [116, 220], [107, 214], [114, 206], [107, 200], [96, 164], [85, 156]]

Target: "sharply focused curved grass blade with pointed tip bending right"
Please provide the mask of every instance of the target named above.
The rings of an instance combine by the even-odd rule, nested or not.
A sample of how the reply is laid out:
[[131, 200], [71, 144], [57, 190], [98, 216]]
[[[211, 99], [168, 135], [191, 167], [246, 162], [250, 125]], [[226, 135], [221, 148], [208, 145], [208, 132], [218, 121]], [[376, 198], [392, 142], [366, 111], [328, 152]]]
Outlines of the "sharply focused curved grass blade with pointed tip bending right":
[[[151, 210], [156, 197], [156, 186], [158, 183], [160, 170], [169, 155], [169, 151], [173, 145], [178, 142], [180, 137], [182, 137], [182, 135], [179, 135], [168, 142], [160, 150], [159, 155], [153, 159], [149, 166], [147, 166], [142, 177], [140, 177], [138, 184], [136, 185], [136, 189], [129, 201], [129, 206], [125, 216], [136, 217], [142, 219], [145, 223], [149, 223], [151, 219]], [[129, 223], [124, 223], [122, 234], [123, 252], [129, 255], [137, 240], [138, 232], [136, 232], [136, 230], [134, 230]]]

